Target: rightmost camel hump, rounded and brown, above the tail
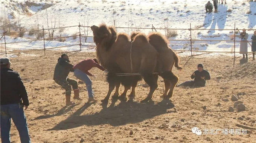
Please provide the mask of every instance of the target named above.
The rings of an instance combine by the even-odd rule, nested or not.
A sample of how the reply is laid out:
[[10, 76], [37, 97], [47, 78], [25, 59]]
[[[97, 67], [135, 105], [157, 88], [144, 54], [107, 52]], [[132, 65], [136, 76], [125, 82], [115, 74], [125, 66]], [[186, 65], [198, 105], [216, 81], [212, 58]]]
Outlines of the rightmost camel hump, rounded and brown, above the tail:
[[160, 49], [168, 49], [169, 42], [168, 39], [166, 39], [165, 36], [158, 32], [152, 32], [148, 36], [149, 43], [157, 50]]

